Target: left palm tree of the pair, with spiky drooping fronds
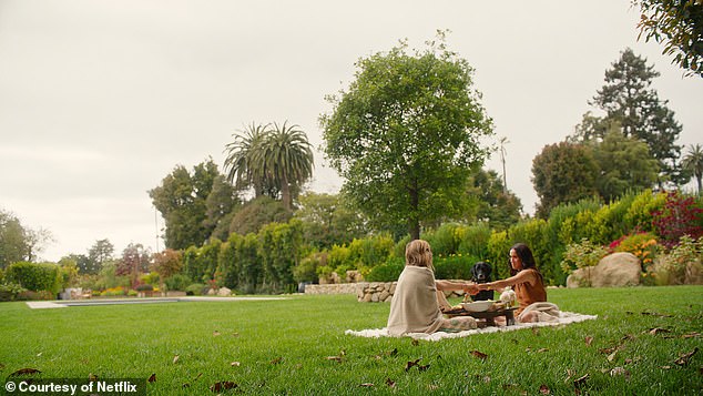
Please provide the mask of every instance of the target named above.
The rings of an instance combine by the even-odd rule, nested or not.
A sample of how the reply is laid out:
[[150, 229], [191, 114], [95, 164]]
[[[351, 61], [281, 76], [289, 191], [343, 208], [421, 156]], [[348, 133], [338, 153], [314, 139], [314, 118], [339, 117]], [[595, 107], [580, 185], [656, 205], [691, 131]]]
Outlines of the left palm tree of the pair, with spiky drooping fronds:
[[252, 122], [244, 130], [234, 134], [234, 142], [226, 145], [225, 171], [227, 181], [238, 189], [254, 186], [255, 196], [263, 195], [267, 189], [265, 164], [261, 161], [261, 150], [268, 139], [269, 124]]

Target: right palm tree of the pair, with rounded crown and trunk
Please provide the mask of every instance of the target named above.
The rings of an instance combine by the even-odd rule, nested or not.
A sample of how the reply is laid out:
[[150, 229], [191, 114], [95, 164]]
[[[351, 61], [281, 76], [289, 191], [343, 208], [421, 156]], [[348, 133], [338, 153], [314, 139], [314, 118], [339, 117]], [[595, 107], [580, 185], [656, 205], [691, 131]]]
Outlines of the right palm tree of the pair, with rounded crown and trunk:
[[267, 176], [281, 190], [281, 197], [286, 210], [293, 207], [292, 186], [300, 186], [313, 175], [313, 149], [305, 132], [299, 126], [274, 123], [267, 134], [258, 155], [258, 163], [264, 163]]

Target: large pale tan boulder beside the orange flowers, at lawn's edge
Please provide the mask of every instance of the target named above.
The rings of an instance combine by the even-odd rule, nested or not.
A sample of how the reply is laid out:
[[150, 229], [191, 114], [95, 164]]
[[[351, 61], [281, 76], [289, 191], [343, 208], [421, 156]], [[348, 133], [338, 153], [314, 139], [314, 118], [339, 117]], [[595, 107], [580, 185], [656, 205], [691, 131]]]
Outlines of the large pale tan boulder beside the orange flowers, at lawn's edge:
[[640, 284], [642, 267], [632, 253], [613, 253], [601, 258], [598, 265], [574, 271], [567, 278], [567, 287], [619, 287]]

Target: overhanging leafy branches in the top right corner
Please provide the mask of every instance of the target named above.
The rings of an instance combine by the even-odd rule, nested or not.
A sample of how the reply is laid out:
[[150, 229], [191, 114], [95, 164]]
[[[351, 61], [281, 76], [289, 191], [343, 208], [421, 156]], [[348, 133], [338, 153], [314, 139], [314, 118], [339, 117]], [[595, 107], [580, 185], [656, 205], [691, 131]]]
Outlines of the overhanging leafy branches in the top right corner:
[[664, 44], [662, 53], [687, 73], [703, 77], [703, 2], [632, 0], [642, 11], [640, 37]]

